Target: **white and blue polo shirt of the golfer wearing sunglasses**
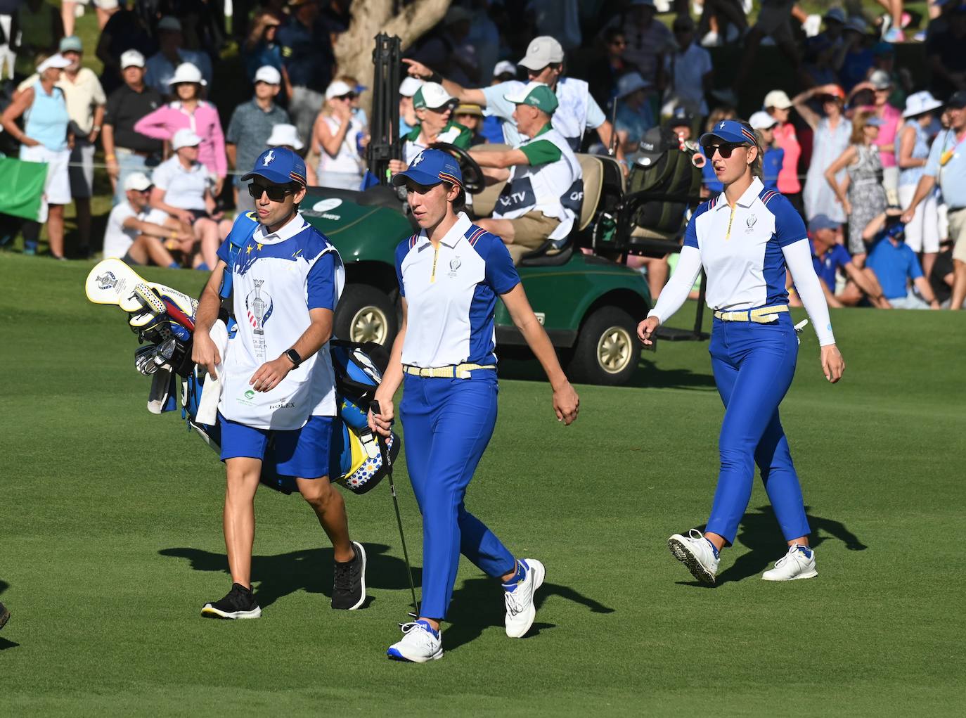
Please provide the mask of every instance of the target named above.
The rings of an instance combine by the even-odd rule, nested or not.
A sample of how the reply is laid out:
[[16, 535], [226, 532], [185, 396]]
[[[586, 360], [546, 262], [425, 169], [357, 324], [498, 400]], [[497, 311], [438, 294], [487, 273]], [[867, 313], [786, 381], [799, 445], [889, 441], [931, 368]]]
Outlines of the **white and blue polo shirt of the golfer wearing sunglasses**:
[[684, 245], [701, 253], [708, 306], [722, 310], [787, 303], [781, 249], [805, 241], [801, 215], [758, 178], [734, 207], [724, 194], [698, 207], [684, 234]]

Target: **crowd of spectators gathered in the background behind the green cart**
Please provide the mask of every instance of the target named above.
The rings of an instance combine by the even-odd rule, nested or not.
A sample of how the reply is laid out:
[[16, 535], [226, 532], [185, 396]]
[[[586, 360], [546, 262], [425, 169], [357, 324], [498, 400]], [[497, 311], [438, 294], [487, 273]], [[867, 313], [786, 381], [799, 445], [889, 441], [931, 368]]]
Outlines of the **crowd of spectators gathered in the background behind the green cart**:
[[[66, 257], [64, 214], [73, 203], [71, 253], [90, 252], [96, 160], [113, 194], [104, 255], [164, 266], [213, 265], [230, 228], [226, 213], [254, 207], [240, 178], [267, 146], [306, 156], [310, 185], [360, 188], [369, 121], [359, 97], [367, 88], [339, 68], [333, 51], [352, 5], [235, 2], [229, 29], [222, 0], [59, 8], [0, 0], [4, 149], [47, 165], [41, 213], [20, 228], [24, 251], [36, 253], [45, 224], [50, 253]], [[524, 148], [534, 139], [524, 127], [540, 132], [542, 144], [530, 142], [537, 149], [526, 160], [479, 161], [488, 177], [531, 177], [534, 165], [563, 167], [572, 152], [611, 154], [628, 169], [641, 158], [644, 135], [664, 128], [695, 156], [702, 195], [712, 196], [721, 185], [695, 140], [741, 107], [763, 153], [762, 182], [806, 220], [832, 305], [960, 308], [966, 4], [929, 0], [927, 16], [907, 12], [901, 0], [877, 0], [874, 10], [846, 0], [809, 14], [816, 5], [454, 0], [406, 50], [403, 157], [390, 169], [434, 142]], [[75, 34], [84, 12], [99, 29], [90, 47]], [[235, 44], [233, 67], [243, 76], [228, 77], [222, 53]], [[99, 74], [85, 67], [85, 52], [99, 59]], [[776, 52], [784, 74], [766, 67]], [[763, 85], [770, 77], [783, 77], [781, 86]], [[534, 94], [526, 81], [550, 95]], [[250, 99], [221, 100], [237, 97], [240, 84], [250, 85]], [[539, 112], [518, 128], [522, 103]], [[571, 164], [566, 176], [580, 180]], [[556, 239], [575, 215], [566, 203], [558, 210], [490, 221], [523, 238], [522, 220], [536, 216], [527, 226]], [[629, 260], [655, 296], [672, 270], [668, 259]]]

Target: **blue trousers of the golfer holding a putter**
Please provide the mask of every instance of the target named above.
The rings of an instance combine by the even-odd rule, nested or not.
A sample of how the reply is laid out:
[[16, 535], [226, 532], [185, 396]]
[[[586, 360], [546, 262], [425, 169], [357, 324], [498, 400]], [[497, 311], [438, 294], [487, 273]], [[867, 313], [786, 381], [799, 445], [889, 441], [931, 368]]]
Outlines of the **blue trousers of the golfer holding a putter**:
[[420, 613], [441, 619], [461, 553], [495, 578], [516, 566], [496, 534], [463, 503], [497, 423], [497, 373], [478, 370], [472, 379], [407, 374], [399, 409], [412, 491], [423, 517]]

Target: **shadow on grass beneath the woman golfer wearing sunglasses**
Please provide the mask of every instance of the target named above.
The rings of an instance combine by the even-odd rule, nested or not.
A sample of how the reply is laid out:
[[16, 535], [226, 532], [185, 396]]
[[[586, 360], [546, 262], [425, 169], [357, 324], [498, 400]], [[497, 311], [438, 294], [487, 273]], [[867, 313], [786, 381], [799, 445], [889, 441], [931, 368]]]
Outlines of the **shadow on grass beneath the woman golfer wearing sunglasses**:
[[[824, 519], [810, 512], [810, 506], [805, 507], [809, 518], [811, 534], [809, 542], [813, 549], [817, 549], [830, 538], [836, 538], [845, 544], [849, 551], [865, 551], [868, 547], [844, 524], [834, 519]], [[742, 545], [748, 549], [739, 556], [734, 563], [717, 577], [713, 586], [698, 581], [679, 581], [682, 586], [696, 586], [701, 589], [714, 589], [729, 581], [741, 581], [751, 576], [758, 576], [769, 568], [776, 560], [781, 559], [781, 552], [785, 547], [784, 537], [779, 530], [778, 522], [771, 506], [758, 506], [750, 509], [742, 519], [735, 537], [735, 545]], [[732, 547], [729, 549], [733, 551]]]

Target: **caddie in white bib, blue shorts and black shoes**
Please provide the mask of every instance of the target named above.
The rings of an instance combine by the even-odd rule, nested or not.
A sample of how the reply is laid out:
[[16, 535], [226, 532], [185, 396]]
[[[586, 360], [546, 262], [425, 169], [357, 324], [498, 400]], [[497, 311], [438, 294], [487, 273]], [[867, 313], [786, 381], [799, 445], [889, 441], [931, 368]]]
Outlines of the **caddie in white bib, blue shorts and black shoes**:
[[[251, 591], [251, 551], [255, 489], [268, 446], [277, 473], [296, 477], [332, 541], [332, 608], [352, 610], [365, 600], [365, 551], [350, 540], [345, 504], [328, 481], [336, 406], [327, 342], [344, 278], [342, 260], [298, 213], [305, 196], [305, 163], [298, 155], [281, 147], [266, 150], [241, 178], [247, 180], [255, 212], [241, 215], [218, 249], [198, 304], [191, 354], [220, 380], [221, 459], [228, 475], [224, 530], [232, 589], [206, 603], [202, 615], [262, 614]], [[233, 238], [241, 239], [234, 262]], [[220, 357], [209, 330], [223, 279], [232, 282], [238, 331]]]

